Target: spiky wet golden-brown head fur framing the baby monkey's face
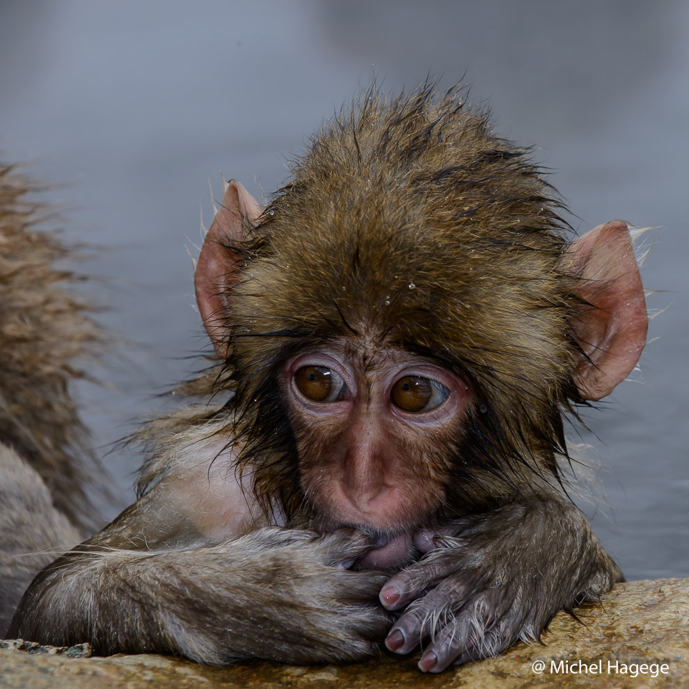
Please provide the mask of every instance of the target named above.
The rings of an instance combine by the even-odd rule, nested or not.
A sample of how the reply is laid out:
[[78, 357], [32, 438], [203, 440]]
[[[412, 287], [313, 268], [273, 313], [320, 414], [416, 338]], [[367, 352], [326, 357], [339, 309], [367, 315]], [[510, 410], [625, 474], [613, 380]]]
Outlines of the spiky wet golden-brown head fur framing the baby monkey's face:
[[466, 437], [450, 448], [464, 488], [448, 495], [479, 500], [478, 475], [512, 488], [524, 468], [557, 476], [560, 410], [578, 399], [561, 209], [529, 150], [459, 88], [386, 100], [374, 87], [327, 122], [233, 247], [230, 404], [258, 495], [277, 486], [288, 513], [300, 504], [278, 370], [333, 338], [422, 354], [469, 384]]

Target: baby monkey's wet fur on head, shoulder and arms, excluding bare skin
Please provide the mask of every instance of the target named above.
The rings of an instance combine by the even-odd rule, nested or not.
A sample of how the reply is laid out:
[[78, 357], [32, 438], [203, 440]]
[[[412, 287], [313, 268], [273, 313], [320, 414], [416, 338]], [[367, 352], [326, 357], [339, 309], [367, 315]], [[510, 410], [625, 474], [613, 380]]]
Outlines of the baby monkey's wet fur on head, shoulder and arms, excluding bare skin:
[[[365, 551], [359, 537], [313, 533], [324, 523], [276, 382], [286, 358], [342, 338], [432, 358], [475, 396], [449, 460], [429, 465], [443, 496], [433, 518], [456, 529], [406, 569], [413, 581], [443, 574], [408, 608], [436, 642], [458, 662], [497, 654], [607, 591], [619, 569], [557, 470], [562, 411], [582, 402], [571, 323], [589, 308], [564, 260], [561, 209], [528, 150], [496, 137], [459, 90], [363, 94], [312, 138], [245, 239], [228, 237], [231, 354], [188, 388], [214, 390], [216, 406], [143, 431], [155, 450], [140, 499], [40, 573], [13, 633], [212, 664], [375, 654], [392, 621], [375, 597], [386, 576], [342, 571]], [[209, 436], [232, 448], [220, 466], [250, 476], [264, 509], [264, 528], [222, 543], [171, 522], [175, 506], [156, 497]], [[312, 531], [269, 528], [276, 510]]]

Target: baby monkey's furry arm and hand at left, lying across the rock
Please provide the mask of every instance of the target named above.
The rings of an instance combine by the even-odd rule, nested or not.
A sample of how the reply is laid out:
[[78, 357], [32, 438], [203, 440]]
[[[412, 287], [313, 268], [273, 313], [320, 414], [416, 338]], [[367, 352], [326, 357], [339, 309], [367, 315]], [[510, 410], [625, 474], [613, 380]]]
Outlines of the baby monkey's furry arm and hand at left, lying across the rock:
[[161, 537], [147, 497], [36, 576], [10, 636], [212, 665], [365, 658], [385, 636], [389, 615], [374, 601], [386, 576], [344, 569], [367, 549], [363, 534], [261, 528], [219, 544], [170, 546], [193, 527], [182, 518]]

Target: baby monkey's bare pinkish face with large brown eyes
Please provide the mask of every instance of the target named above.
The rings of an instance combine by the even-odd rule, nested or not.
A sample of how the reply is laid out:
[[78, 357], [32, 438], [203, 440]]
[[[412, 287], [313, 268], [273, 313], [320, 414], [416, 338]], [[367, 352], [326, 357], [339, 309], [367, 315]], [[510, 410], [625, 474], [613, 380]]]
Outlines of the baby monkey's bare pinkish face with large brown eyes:
[[406, 552], [445, 498], [445, 448], [473, 399], [466, 383], [422, 356], [350, 341], [294, 356], [281, 386], [301, 486], [322, 521], [369, 532], [390, 557]]

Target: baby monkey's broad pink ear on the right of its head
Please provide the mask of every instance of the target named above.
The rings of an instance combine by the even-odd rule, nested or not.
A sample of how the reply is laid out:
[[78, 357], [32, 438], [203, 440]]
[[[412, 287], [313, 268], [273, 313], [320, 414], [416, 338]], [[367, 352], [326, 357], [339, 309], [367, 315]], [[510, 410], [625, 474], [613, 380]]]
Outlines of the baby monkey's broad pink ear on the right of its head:
[[613, 220], [587, 232], [566, 260], [579, 278], [578, 296], [590, 305], [571, 324], [585, 354], [575, 381], [584, 399], [601, 399], [628, 376], [646, 344], [646, 300], [627, 224]]

